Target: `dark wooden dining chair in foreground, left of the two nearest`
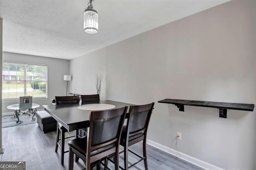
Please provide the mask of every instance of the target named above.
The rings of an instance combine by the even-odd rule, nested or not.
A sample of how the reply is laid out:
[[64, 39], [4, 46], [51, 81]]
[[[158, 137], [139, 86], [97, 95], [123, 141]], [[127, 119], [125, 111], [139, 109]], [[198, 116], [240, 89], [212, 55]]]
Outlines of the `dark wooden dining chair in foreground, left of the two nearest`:
[[[105, 111], [91, 111], [88, 135], [68, 142], [68, 169], [73, 170], [74, 154], [85, 163], [86, 169], [110, 154], [114, 154], [115, 170], [119, 169], [119, 143], [127, 106]], [[109, 168], [108, 168], [109, 169]]]

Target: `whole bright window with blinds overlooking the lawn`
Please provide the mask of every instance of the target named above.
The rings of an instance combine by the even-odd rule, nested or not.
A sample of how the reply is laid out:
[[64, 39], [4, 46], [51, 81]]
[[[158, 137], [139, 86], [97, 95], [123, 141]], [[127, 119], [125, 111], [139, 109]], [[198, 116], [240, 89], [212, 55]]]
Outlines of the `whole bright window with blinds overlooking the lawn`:
[[47, 98], [47, 66], [3, 62], [2, 98]]

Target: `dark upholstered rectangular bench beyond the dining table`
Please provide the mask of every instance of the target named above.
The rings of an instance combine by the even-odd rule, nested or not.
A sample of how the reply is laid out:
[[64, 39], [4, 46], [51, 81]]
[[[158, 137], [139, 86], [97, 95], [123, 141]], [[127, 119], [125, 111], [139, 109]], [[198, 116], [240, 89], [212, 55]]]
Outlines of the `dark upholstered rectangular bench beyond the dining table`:
[[56, 131], [57, 121], [46, 111], [36, 111], [37, 123], [44, 133]]

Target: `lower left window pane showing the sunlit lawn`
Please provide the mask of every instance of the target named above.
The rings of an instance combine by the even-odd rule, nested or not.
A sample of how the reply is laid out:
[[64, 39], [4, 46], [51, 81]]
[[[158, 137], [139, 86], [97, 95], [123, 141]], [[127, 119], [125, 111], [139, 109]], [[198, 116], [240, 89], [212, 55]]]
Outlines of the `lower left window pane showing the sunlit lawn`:
[[22, 81], [3, 81], [2, 98], [18, 98], [24, 96], [24, 82]]

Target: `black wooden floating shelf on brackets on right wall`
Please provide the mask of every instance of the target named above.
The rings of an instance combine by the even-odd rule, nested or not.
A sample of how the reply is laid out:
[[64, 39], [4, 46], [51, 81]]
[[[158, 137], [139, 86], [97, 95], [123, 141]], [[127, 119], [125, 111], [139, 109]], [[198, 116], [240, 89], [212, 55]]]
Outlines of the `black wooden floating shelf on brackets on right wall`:
[[253, 111], [254, 104], [241, 104], [241, 103], [224, 103], [224, 102], [206, 102], [197, 100], [177, 100], [177, 99], [164, 99], [158, 103], [174, 104], [180, 111], [184, 111], [184, 105], [200, 106], [200, 107], [214, 107], [220, 109], [220, 117], [227, 118], [227, 109]]

